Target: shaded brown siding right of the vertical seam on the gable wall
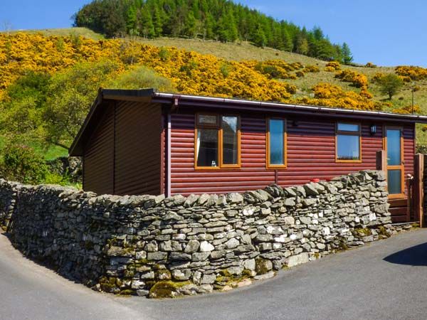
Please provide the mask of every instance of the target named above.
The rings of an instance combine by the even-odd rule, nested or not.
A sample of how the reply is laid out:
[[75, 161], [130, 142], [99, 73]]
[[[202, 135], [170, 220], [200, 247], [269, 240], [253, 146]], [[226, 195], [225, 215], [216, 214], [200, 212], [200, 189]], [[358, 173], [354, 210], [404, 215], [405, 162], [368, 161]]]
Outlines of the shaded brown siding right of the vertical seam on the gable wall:
[[160, 193], [161, 114], [159, 105], [117, 103], [115, 194]]

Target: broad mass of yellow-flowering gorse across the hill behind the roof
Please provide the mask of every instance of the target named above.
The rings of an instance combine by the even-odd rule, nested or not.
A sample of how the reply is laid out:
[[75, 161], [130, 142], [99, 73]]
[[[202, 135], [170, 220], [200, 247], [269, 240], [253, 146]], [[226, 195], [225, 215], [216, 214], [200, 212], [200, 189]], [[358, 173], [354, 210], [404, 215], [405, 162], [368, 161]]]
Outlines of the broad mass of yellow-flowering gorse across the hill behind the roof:
[[[174, 47], [157, 48], [130, 39], [94, 41], [79, 36], [43, 36], [42, 34], [0, 33], [0, 99], [5, 89], [28, 70], [37, 73], [57, 73], [76, 63], [110, 60], [118, 65], [117, 76], [127, 73], [136, 65], [151, 68], [172, 81], [174, 87], [185, 94], [239, 97], [252, 100], [307, 103], [373, 110], [371, 94], [364, 87], [367, 80], [354, 75], [352, 82], [360, 84], [362, 91], [344, 91], [341, 87], [319, 84], [313, 88], [314, 98], [292, 97], [295, 85], [282, 79], [296, 79], [308, 72], [319, 72], [313, 65], [286, 63], [283, 60], [258, 62], [228, 61], [214, 55]], [[337, 62], [327, 68], [340, 70]], [[296, 74], [297, 73], [297, 74]], [[87, 79], [90, 81], [90, 79]]]

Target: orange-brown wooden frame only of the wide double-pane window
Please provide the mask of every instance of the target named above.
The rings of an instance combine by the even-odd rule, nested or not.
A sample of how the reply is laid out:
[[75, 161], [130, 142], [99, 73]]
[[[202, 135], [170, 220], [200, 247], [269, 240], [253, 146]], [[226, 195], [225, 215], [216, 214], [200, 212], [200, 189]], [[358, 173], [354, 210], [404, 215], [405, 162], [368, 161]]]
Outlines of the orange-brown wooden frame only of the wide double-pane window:
[[[199, 115], [216, 116], [216, 124], [201, 124]], [[237, 164], [223, 164], [223, 127], [222, 117], [237, 117]], [[238, 114], [215, 114], [209, 112], [197, 112], [194, 126], [194, 169], [195, 170], [233, 170], [241, 169], [241, 117]], [[197, 130], [217, 129], [218, 130], [218, 165], [217, 166], [197, 166]]]

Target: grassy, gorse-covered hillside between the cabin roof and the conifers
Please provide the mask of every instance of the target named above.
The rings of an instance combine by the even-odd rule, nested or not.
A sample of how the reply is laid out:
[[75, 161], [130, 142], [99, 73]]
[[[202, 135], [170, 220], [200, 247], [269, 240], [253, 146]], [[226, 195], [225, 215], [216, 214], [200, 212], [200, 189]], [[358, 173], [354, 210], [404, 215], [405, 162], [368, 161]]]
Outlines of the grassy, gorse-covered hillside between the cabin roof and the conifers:
[[[91, 39], [78, 34], [88, 35]], [[365, 110], [402, 112], [402, 108], [411, 105], [411, 90], [415, 85], [418, 89], [414, 92], [415, 103], [421, 107], [417, 111], [427, 114], [427, 80], [424, 76], [404, 82], [404, 87], [391, 101], [379, 92], [374, 76], [377, 73], [395, 73], [395, 68], [340, 65], [339, 70], [330, 70], [325, 61], [272, 48], [259, 48], [244, 41], [221, 43], [139, 37], [100, 39], [102, 36], [85, 28], [47, 30], [44, 34], [30, 31], [8, 36], [0, 33], [0, 96], [3, 93], [3, 106], [7, 109], [10, 105], [7, 101], [8, 88], [28, 70], [61, 78], [70, 73], [68, 70], [82, 68], [79, 63], [84, 61], [92, 64], [109, 59], [117, 63], [117, 69], [101, 77], [102, 80], [90, 83], [89, 92], [92, 93], [88, 100], [95, 95], [97, 86], [120, 85], [117, 82], [113, 84], [111, 79], [132, 73], [137, 65], [144, 65], [154, 70], [158, 77], [171, 81], [176, 92]], [[30, 43], [38, 43], [38, 46], [33, 48]], [[350, 75], [359, 82], [354, 82], [352, 77], [352, 82], [337, 78], [337, 73], [342, 73], [342, 70], [352, 72]], [[415, 72], [423, 75], [425, 69], [411, 68], [409, 71], [409, 75]], [[85, 114], [87, 108], [85, 106], [81, 114]], [[421, 144], [427, 142], [421, 128], [418, 129], [417, 140]], [[69, 142], [68, 139], [66, 144]]]

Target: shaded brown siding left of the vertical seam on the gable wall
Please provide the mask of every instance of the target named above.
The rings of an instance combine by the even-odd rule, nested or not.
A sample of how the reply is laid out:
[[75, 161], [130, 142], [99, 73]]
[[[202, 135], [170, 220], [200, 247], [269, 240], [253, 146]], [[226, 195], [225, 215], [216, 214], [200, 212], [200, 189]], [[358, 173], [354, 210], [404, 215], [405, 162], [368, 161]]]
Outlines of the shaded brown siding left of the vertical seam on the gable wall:
[[83, 157], [83, 188], [98, 194], [112, 194], [114, 186], [114, 103], [105, 102], [105, 107]]

